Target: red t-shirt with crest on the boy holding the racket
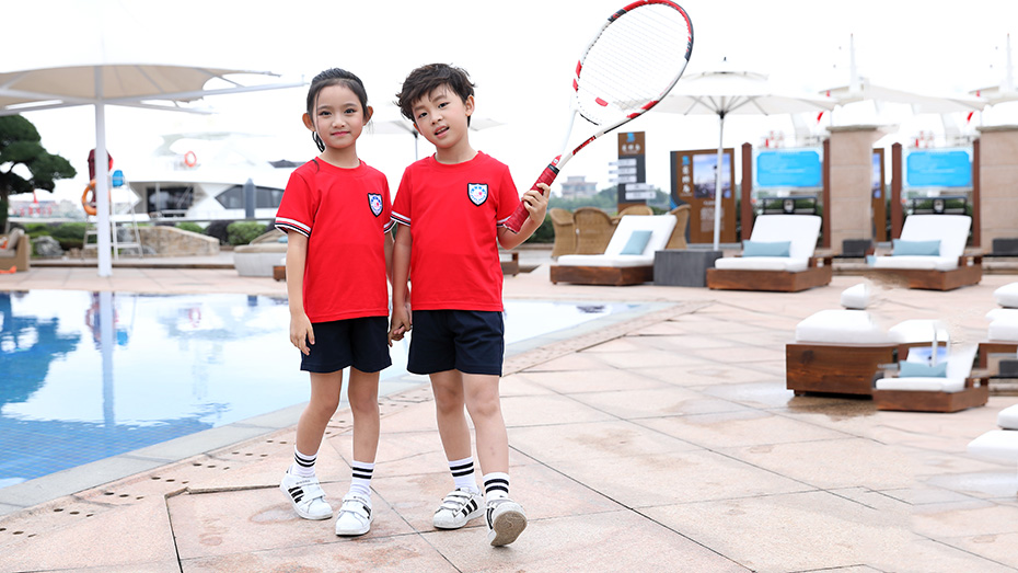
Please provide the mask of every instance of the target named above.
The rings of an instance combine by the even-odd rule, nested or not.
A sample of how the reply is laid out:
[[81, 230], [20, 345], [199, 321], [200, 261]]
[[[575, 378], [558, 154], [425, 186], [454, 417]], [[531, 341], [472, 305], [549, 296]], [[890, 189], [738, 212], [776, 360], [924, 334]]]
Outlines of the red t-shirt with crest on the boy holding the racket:
[[497, 233], [519, 204], [509, 168], [482, 152], [463, 163], [429, 157], [406, 168], [392, 216], [414, 241], [410, 307], [502, 310]]

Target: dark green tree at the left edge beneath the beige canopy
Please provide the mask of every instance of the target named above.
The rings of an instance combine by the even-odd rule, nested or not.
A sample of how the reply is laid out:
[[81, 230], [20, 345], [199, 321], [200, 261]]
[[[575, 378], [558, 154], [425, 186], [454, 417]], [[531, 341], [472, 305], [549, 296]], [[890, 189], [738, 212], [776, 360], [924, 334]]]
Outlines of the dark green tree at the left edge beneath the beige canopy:
[[[78, 174], [70, 161], [49, 153], [41, 141], [32, 122], [20, 115], [0, 116], [0, 229], [7, 225], [11, 194], [53, 191], [58, 179]], [[19, 165], [27, 169], [28, 179], [14, 172]]]

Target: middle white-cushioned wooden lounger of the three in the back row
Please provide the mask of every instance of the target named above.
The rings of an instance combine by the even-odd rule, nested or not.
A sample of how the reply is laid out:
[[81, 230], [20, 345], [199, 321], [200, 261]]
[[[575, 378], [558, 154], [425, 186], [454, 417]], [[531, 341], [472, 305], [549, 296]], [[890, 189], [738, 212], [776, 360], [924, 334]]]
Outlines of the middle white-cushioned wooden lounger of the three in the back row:
[[707, 287], [795, 293], [830, 284], [832, 257], [813, 256], [820, 224], [815, 215], [756, 217], [741, 256], [715, 261]]

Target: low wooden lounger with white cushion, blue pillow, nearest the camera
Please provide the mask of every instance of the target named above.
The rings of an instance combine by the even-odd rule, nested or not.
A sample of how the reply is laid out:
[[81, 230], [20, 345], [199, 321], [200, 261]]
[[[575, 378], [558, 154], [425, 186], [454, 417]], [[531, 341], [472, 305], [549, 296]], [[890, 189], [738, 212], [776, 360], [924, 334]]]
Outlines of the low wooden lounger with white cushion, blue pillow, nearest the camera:
[[875, 385], [877, 410], [958, 412], [985, 405], [990, 400], [990, 378], [972, 376], [975, 352], [974, 344], [952, 348], [944, 376], [903, 376], [910, 366], [905, 363], [924, 366], [926, 363], [925, 358], [900, 362], [898, 376], [886, 376]]

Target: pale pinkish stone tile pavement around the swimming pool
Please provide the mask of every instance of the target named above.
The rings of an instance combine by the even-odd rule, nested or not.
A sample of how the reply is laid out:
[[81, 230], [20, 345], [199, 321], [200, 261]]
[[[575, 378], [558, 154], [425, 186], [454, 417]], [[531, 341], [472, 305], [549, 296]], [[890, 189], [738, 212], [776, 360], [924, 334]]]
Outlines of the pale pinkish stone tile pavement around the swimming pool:
[[[284, 293], [224, 270], [94, 274], [37, 268], [0, 277], [0, 288]], [[951, 293], [875, 285], [869, 310], [887, 324], [939, 318], [953, 340], [975, 342], [992, 290], [1014, 279], [987, 275]], [[431, 527], [451, 480], [430, 390], [410, 377], [421, 383], [381, 400], [375, 519], [361, 538], [292, 515], [276, 486], [294, 428], [266, 425], [14, 508], [0, 517], [0, 572], [1015, 571], [1015, 466], [972, 458], [965, 445], [1018, 397], [923, 414], [785, 390], [795, 324], [859, 280], [774, 294], [552, 285], [546, 266], [507, 278], [507, 298], [656, 305], [507, 358], [512, 490], [530, 525], [506, 548], [485, 543], [481, 520]], [[349, 479], [349, 412], [337, 412], [321, 452], [333, 500]]]

